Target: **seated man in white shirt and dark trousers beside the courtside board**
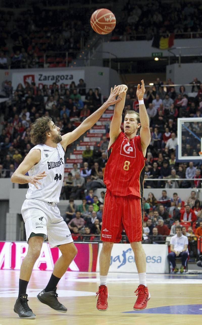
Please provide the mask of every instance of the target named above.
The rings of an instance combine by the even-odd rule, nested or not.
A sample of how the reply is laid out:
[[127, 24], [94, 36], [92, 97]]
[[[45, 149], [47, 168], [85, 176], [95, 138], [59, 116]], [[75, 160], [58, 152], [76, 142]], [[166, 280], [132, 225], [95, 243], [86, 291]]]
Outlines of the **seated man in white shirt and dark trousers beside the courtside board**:
[[186, 266], [188, 258], [188, 238], [182, 234], [182, 226], [176, 226], [176, 235], [170, 239], [170, 253], [168, 254], [169, 261], [174, 268], [174, 273], [177, 273], [179, 269], [176, 267], [175, 258], [182, 257], [182, 266], [180, 273], [183, 273], [184, 266]]

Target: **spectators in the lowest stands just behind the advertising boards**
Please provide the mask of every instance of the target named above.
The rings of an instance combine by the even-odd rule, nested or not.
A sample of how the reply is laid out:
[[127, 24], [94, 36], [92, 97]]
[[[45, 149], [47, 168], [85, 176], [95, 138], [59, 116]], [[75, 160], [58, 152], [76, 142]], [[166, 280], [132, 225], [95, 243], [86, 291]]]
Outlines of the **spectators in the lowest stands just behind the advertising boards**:
[[[76, 205], [74, 199], [69, 204], [63, 216], [74, 237], [74, 240], [99, 240], [102, 225], [102, 210], [105, 191], [98, 198], [90, 189], [82, 199], [82, 204]], [[197, 239], [202, 236], [202, 205], [196, 198], [196, 191], [183, 201], [178, 193], [167, 196], [166, 190], [162, 196], [155, 198], [150, 192], [143, 199], [145, 215], [143, 224], [143, 243], [170, 243], [170, 236], [176, 235], [176, 228], [181, 226], [182, 235], [188, 238], [190, 261], [197, 258]], [[122, 231], [122, 242], [128, 242], [125, 231]]]

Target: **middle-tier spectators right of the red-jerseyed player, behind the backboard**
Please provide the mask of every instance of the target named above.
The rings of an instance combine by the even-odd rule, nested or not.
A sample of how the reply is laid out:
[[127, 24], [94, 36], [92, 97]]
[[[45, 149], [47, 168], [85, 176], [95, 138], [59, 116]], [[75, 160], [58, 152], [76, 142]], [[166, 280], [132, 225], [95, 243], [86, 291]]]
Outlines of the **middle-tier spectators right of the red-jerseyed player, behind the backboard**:
[[[151, 142], [145, 163], [145, 188], [201, 188], [201, 181], [197, 180], [202, 175], [201, 161], [176, 162], [175, 150], [178, 117], [202, 116], [202, 84], [194, 78], [190, 82], [193, 86], [189, 97], [184, 86], [181, 86], [177, 93], [170, 79], [167, 84], [170, 87], [165, 91], [163, 83], [157, 78], [154, 86], [151, 86], [146, 93], [145, 105], [150, 119]], [[183, 101], [182, 98], [186, 100]], [[129, 88], [126, 104], [125, 111], [139, 109], [133, 88]], [[186, 122], [185, 125], [186, 128], [182, 130], [182, 156], [199, 157], [201, 145], [194, 134], [201, 138], [202, 123]], [[174, 181], [169, 180], [173, 178]], [[178, 178], [184, 180], [177, 181]], [[159, 181], [152, 181], [152, 179], [159, 179]]]

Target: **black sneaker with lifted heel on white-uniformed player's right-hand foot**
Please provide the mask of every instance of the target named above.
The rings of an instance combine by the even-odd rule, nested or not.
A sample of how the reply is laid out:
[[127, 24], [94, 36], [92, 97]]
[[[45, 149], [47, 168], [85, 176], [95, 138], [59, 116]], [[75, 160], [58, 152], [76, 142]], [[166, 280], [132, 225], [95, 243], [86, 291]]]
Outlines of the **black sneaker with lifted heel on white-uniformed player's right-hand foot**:
[[57, 300], [58, 294], [56, 293], [57, 288], [53, 291], [45, 292], [42, 290], [39, 294], [37, 294], [37, 299], [41, 301], [42, 304], [48, 305], [49, 307], [60, 311], [61, 313], [66, 313], [67, 308], [59, 303]]

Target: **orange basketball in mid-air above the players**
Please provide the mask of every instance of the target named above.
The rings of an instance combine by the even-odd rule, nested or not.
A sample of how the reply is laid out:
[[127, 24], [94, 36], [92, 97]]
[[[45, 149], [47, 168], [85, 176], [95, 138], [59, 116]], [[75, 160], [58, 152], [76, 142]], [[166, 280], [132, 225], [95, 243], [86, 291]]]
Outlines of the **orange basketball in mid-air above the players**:
[[116, 18], [108, 9], [97, 9], [91, 16], [91, 27], [98, 34], [109, 34], [115, 26]]

